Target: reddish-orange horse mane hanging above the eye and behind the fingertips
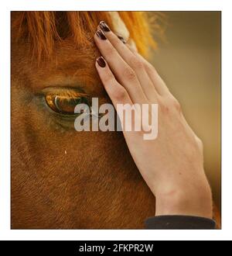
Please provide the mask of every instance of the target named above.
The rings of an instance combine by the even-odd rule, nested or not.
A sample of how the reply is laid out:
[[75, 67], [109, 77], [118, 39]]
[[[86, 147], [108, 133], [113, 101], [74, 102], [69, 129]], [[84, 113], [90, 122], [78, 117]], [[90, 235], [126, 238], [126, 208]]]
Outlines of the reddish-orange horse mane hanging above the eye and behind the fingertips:
[[[118, 12], [125, 22], [138, 51], [146, 55], [149, 47], [155, 47], [151, 27], [160, 29], [160, 14], [152, 12]], [[93, 35], [97, 25], [104, 20], [112, 27], [109, 12], [15, 12], [12, 31], [16, 40], [26, 40], [30, 45], [32, 57], [38, 61], [53, 54], [55, 43], [71, 38], [77, 47], [92, 47]]]

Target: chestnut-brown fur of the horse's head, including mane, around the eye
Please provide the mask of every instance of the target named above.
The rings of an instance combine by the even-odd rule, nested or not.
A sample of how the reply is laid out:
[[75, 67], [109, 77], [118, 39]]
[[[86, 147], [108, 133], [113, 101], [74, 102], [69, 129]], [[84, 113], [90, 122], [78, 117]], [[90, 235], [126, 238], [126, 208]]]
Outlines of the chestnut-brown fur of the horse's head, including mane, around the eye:
[[[147, 14], [119, 15], [146, 54]], [[155, 215], [123, 135], [78, 133], [44, 100], [75, 88], [110, 102], [94, 67], [101, 20], [112, 26], [108, 12], [12, 12], [13, 229], [141, 229]]]

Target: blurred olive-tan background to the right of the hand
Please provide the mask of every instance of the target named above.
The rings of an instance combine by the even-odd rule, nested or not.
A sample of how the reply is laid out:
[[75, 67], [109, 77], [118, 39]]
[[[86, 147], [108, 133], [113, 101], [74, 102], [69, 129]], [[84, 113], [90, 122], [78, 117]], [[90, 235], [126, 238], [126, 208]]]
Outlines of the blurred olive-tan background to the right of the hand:
[[206, 175], [220, 209], [220, 12], [162, 12], [167, 27], [152, 57], [203, 140]]

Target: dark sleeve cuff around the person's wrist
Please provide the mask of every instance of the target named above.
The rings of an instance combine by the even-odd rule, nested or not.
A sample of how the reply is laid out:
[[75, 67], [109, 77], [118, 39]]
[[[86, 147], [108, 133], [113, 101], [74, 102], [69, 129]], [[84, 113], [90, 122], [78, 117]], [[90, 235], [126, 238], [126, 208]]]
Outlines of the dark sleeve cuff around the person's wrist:
[[214, 220], [197, 216], [156, 216], [145, 220], [148, 230], [215, 230]]

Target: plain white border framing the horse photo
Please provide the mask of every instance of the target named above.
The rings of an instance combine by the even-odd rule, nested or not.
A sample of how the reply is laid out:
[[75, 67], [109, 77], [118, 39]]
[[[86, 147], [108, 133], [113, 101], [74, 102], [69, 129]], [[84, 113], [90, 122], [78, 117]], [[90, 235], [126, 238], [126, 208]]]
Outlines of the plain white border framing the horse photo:
[[[132, 7], [133, 6], [133, 7]], [[2, 240], [230, 240], [232, 238], [231, 166], [231, 5], [228, 0], [8, 0], [1, 1], [1, 168], [0, 239]], [[223, 22], [223, 230], [10, 230], [10, 11], [11, 10], [222, 11]]]

